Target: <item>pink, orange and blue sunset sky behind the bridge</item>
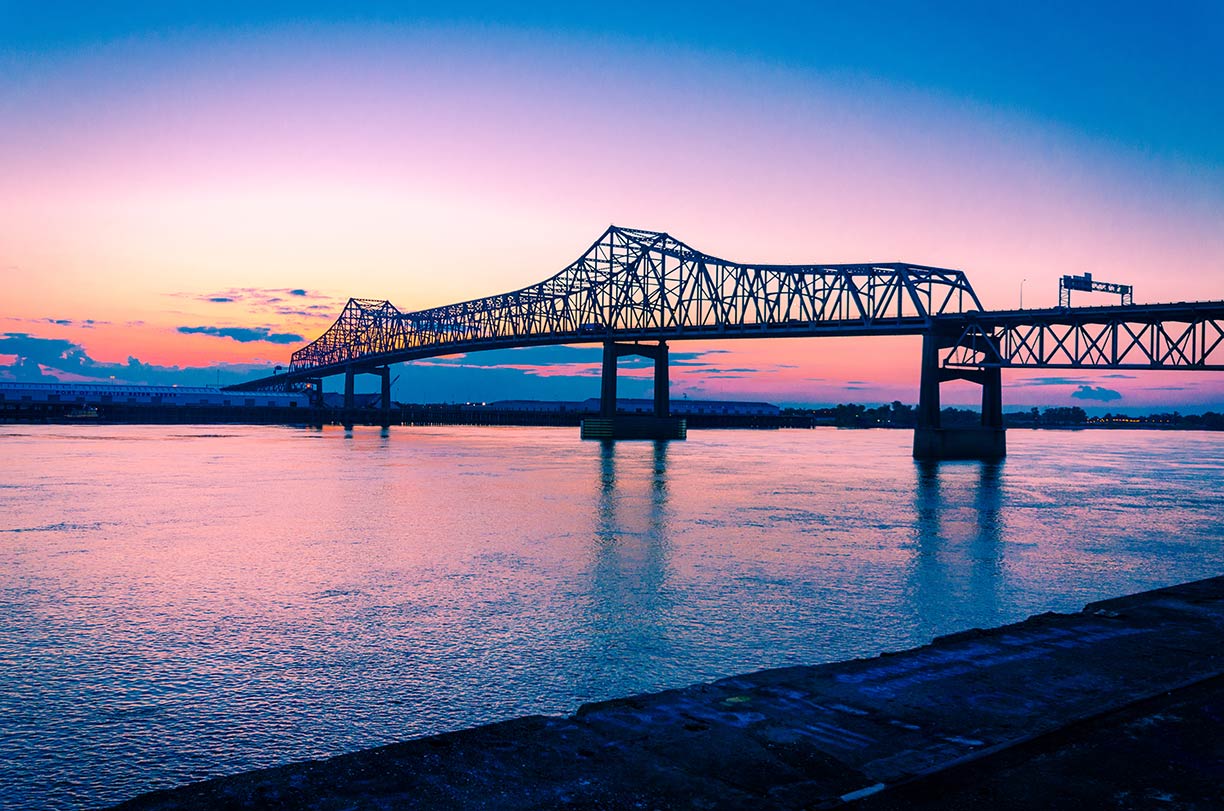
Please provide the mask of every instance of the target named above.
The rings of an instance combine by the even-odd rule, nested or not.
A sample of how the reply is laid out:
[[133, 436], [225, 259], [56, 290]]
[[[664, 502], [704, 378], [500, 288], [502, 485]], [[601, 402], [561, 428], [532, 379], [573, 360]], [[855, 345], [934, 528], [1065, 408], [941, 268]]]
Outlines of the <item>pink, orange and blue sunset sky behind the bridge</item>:
[[[0, 0], [0, 379], [233, 383], [349, 296], [513, 290], [612, 223], [960, 268], [988, 308], [1084, 272], [1224, 298], [1224, 5], [759, 5]], [[677, 344], [673, 396], [913, 402], [918, 346]], [[583, 399], [597, 366], [437, 358], [395, 398]], [[1224, 410], [1213, 373], [1004, 382]]]

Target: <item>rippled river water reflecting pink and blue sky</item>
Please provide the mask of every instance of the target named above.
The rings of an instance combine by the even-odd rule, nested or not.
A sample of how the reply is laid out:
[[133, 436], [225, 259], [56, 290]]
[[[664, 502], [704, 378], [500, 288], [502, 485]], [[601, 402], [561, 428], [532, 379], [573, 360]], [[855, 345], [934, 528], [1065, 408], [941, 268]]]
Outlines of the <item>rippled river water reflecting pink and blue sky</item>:
[[0, 427], [0, 807], [188, 780], [1224, 572], [1224, 435]]

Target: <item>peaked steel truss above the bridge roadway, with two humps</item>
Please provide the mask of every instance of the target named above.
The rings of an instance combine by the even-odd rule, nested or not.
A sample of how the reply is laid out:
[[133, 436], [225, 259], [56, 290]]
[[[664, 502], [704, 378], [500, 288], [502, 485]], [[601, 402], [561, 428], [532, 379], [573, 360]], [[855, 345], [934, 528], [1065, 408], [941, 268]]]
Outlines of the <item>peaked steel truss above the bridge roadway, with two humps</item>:
[[577, 262], [523, 290], [408, 313], [351, 298], [284, 377], [537, 344], [917, 333], [931, 317], [980, 307], [960, 270], [741, 264], [667, 234], [611, 226]]

